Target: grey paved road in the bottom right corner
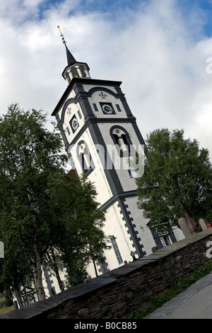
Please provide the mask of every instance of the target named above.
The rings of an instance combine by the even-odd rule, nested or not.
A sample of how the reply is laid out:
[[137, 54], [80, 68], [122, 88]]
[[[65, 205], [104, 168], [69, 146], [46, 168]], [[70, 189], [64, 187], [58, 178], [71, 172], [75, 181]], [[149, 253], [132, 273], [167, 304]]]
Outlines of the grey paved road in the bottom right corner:
[[212, 272], [145, 319], [212, 319]]

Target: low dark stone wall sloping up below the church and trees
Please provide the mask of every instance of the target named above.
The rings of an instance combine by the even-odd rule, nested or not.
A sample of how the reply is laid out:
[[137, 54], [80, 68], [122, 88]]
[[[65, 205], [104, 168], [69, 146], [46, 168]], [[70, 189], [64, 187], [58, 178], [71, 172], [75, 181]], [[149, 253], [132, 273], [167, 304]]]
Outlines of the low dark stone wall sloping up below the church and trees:
[[111, 319], [148, 304], [151, 295], [208, 260], [212, 228], [0, 319]]

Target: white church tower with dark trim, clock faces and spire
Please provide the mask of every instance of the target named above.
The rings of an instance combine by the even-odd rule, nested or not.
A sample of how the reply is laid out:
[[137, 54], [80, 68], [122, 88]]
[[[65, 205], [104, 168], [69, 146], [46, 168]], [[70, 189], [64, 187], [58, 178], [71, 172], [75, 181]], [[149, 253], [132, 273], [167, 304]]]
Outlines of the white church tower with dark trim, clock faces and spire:
[[61, 37], [68, 62], [62, 76], [68, 86], [52, 115], [61, 125], [76, 176], [86, 174], [95, 184], [100, 210], [107, 210], [104, 232], [114, 238], [112, 248], [103, 254], [105, 264], [97, 264], [101, 274], [132, 261], [133, 255], [138, 259], [178, 239], [172, 230], [167, 235], [152, 232], [137, 208], [129, 159], [135, 152], [146, 154], [145, 142], [120, 88], [122, 82], [91, 79], [88, 64], [76, 61]]

